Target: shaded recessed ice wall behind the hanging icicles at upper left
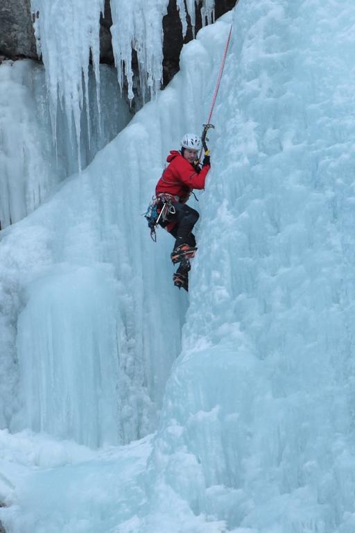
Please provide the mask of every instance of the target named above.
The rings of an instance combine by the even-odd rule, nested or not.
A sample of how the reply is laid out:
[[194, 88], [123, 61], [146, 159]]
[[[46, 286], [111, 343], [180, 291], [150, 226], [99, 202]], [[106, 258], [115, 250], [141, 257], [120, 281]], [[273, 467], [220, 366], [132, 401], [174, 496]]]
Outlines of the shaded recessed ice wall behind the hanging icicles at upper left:
[[[80, 117], [81, 164], [128, 124], [128, 104], [121, 99], [116, 71], [101, 65], [102, 105], [96, 103], [96, 83], [89, 71], [90, 116]], [[0, 227], [33, 212], [69, 174], [78, 171], [78, 146], [72, 141], [67, 117], [58, 109], [53, 139], [44, 68], [31, 60], [0, 66]]]

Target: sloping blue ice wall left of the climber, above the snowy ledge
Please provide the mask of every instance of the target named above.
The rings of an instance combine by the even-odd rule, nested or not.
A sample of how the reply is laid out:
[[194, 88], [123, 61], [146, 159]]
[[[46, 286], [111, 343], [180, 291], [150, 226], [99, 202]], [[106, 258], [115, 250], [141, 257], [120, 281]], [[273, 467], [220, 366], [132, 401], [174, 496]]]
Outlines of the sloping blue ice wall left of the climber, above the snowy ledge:
[[141, 214], [170, 149], [200, 129], [218, 69], [199, 42], [184, 57], [159, 103], [1, 235], [1, 368], [11, 378], [1, 381], [2, 425], [12, 430], [97, 446], [155, 428], [187, 298], [171, 281], [173, 239], [151, 242]]

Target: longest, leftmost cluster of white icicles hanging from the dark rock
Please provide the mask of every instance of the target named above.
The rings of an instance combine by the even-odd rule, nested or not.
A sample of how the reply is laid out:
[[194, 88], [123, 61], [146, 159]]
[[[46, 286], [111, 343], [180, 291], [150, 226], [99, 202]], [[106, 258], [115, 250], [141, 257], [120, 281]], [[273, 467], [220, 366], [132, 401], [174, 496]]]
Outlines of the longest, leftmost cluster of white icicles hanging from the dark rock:
[[[31, 0], [35, 14], [37, 53], [46, 67], [46, 83], [51, 101], [53, 129], [56, 124], [58, 101], [63, 105], [70, 127], [74, 122], [80, 168], [80, 116], [83, 110], [83, 78], [85, 102], [88, 105], [87, 85], [90, 50], [99, 87], [100, 14], [104, 0], [87, 3], [78, 0]], [[98, 106], [99, 108], [99, 106]], [[88, 111], [87, 111], [88, 112]], [[88, 117], [89, 123], [89, 117]], [[55, 132], [54, 132], [55, 133]], [[54, 135], [55, 136], [55, 135]]]

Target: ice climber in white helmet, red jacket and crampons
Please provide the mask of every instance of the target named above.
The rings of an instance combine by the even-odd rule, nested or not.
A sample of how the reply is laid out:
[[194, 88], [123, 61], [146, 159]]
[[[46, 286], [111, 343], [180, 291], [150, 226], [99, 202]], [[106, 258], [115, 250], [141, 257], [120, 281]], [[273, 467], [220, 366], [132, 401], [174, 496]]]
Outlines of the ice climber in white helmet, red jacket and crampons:
[[[185, 290], [189, 289], [190, 259], [197, 250], [192, 230], [200, 216], [186, 202], [193, 189], [205, 188], [205, 179], [211, 167], [209, 150], [204, 141], [195, 134], [184, 135], [180, 151], [173, 150], [166, 158], [168, 166], [155, 187], [163, 214], [158, 223], [175, 237], [171, 260], [174, 264], [180, 263], [173, 275], [173, 282]], [[201, 166], [198, 153], [202, 149], [202, 142], [205, 157]]]

